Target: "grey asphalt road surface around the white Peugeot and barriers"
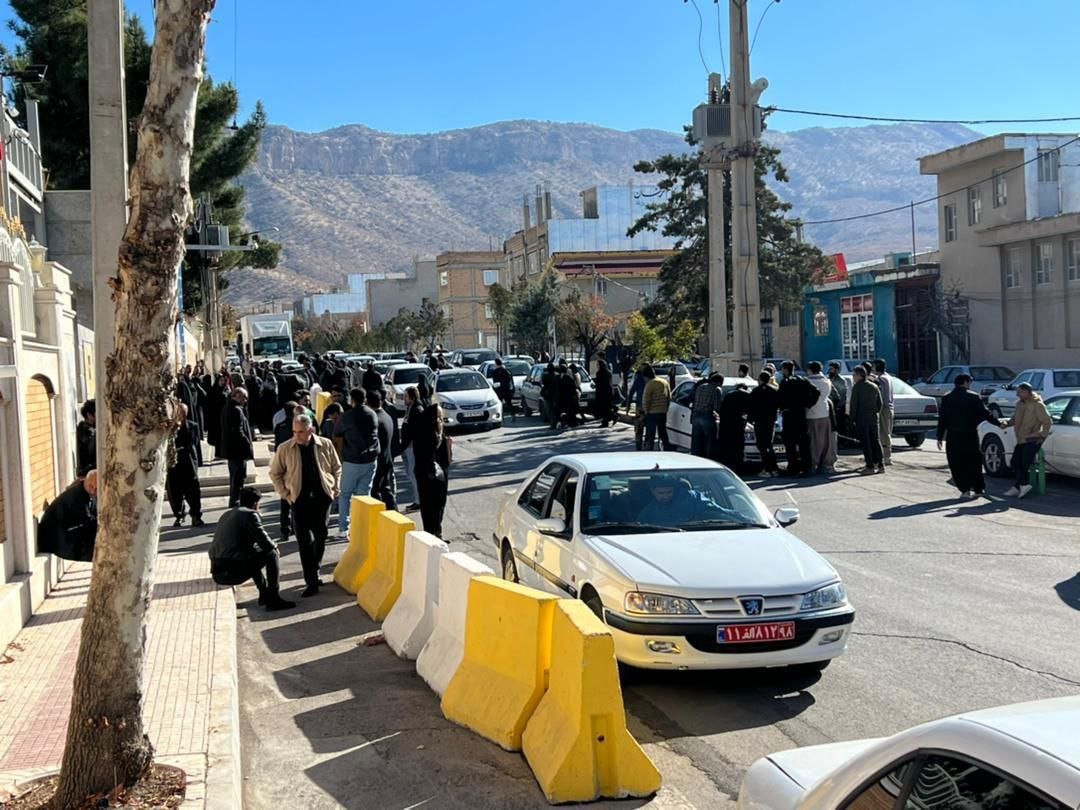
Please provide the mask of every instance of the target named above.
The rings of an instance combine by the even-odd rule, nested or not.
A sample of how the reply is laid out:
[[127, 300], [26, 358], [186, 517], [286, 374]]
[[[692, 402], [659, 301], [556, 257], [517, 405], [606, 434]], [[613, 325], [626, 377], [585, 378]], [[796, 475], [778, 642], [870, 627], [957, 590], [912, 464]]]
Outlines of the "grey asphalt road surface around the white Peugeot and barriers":
[[[557, 453], [632, 447], [625, 426], [595, 424], [552, 435], [519, 419], [457, 436], [451, 550], [497, 568], [490, 537], [504, 487]], [[886, 475], [751, 482], [770, 507], [795, 498], [792, 530], [843, 577], [854, 635], [821, 675], [624, 671], [631, 729], [664, 777], [656, 806], [730, 806], [745, 769], [772, 751], [1077, 692], [1080, 486], [1052, 480], [1044, 497], [966, 502], [929, 443], [896, 448], [894, 462]], [[340, 548], [327, 552], [327, 575]], [[295, 585], [295, 549], [283, 551]], [[411, 665], [384, 646], [356, 646], [374, 625], [347, 595], [330, 586], [302, 602], [287, 615], [241, 609], [248, 807], [544, 806], [518, 755], [443, 720]]]

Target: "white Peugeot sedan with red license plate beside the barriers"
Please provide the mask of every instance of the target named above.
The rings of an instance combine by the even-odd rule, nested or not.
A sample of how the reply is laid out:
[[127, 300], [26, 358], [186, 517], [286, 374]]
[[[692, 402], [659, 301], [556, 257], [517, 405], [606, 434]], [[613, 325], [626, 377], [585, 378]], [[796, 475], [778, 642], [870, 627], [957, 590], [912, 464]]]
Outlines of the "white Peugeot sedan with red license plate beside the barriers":
[[801, 664], [848, 645], [839, 575], [727, 468], [674, 453], [555, 456], [508, 495], [502, 576], [579, 598], [619, 661], [669, 670]]

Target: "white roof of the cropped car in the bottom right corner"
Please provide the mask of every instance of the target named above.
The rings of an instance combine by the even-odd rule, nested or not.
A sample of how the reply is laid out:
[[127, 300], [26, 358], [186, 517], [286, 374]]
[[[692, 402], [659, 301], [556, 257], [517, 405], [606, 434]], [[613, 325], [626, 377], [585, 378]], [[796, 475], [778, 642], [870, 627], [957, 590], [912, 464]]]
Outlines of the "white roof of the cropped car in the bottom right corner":
[[967, 712], [960, 719], [1021, 740], [1074, 768], [1080, 762], [1080, 696]]

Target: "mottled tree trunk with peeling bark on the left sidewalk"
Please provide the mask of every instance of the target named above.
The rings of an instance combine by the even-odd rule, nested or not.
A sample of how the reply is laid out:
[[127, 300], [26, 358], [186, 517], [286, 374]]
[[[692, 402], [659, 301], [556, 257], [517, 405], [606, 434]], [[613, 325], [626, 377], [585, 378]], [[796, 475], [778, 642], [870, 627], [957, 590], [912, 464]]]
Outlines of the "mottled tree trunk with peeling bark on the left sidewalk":
[[[96, 0], [91, 0], [95, 2]], [[214, 0], [157, 0], [131, 218], [120, 244], [112, 414], [99, 464], [98, 532], [53, 806], [136, 782], [153, 746], [143, 727], [146, 617], [153, 588], [165, 443], [173, 429], [177, 269], [191, 217], [188, 174], [206, 23]]]

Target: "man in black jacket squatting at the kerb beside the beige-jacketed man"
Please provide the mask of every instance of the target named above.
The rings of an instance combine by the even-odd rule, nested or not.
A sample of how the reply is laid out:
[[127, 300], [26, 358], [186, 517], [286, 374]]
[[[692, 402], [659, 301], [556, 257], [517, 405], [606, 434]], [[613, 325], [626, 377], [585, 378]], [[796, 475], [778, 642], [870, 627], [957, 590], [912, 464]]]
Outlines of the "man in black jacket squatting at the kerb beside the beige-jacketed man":
[[278, 546], [262, 528], [261, 497], [255, 487], [244, 487], [240, 492], [240, 505], [218, 518], [210, 544], [210, 572], [219, 585], [239, 585], [254, 580], [260, 605], [267, 610], [287, 610], [296, 607], [296, 603], [281, 598], [279, 593]]

